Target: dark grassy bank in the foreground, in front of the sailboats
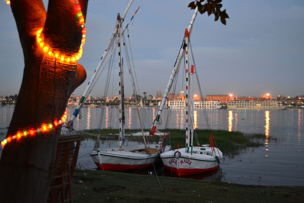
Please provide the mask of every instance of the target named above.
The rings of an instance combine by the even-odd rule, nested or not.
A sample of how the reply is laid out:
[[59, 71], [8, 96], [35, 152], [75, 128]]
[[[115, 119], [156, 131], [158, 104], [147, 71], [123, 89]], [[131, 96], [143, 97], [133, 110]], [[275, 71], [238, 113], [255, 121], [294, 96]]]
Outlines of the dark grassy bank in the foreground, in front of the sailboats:
[[[159, 181], [158, 181], [159, 180]], [[304, 187], [259, 186], [78, 170], [73, 202], [303, 202]]]

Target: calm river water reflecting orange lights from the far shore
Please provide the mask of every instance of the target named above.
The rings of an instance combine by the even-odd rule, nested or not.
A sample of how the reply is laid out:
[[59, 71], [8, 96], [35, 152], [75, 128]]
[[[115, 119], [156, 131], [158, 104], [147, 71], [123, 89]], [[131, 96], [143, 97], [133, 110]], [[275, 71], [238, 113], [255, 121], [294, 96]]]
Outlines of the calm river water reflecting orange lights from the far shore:
[[[0, 107], [0, 131], [5, 132], [9, 126], [14, 107]], [[74, 108], [68, 108], [68, 118]], [[74, 129], [94, 129], [98, 127], [101, 108], [81, 109], [81, 119], [76, 119]], [[150, 122], [154, 119], [157, 109], [147, 109]], [[304, 111], [303, 110], [227, 110], [208, 109], [208, 118], [212, 129], [241, 131], [244, 133], [263, 133], [278, 138], [278, 141], [265, 141], [265, 146], [250, 149], [234, 159], [225, 158], [220, 167], [224, 173], [224, 181], [240, 184], [289, 185], [304, 186]], [[106, 108], [102, 128], [119, 128], [118, 108]], [[158, 129], [164, 129], [168, 109], [162, 113], [163, 123]], [[126, 108], [126, 128], [139, 128], [135, 108]], [[198, 128], [206, 128], [202, 110], [194, 112], [195, 124]], [[112, 120], [112, 121], [110, 121]], [[183, 128], [185, 110], [173, 109], [169, 128]], [[149, 129], [150, 124], [144, 123]], [[2, 141], [5, 135], [0, 135]], [[78, 155], [78, 166], [95, 168], [90, 156], [93, 141], [84, 141]], [[0, 154], [2, 149], [0, 149]], [[166, 173], [164, 171], [164, 173]], [[199, 179], [210, 179], [218, 173], [207, 174], [209, 177], [197, 176]]]

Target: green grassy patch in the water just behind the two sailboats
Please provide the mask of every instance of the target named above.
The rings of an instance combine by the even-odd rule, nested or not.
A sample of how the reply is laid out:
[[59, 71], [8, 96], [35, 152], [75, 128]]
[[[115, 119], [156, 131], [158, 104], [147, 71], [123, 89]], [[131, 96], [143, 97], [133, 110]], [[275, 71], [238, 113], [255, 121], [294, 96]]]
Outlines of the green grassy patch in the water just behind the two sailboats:
[[[129, 132], [135, 132], [139, 131], [139, 129], [126, 129], [126, 133]], [[145, 130], [149, 131], [149, 130]], [[161, 132], [164, 132], [164, 130], [160, 130]], [[95, 129], [93, 130], [84, 130], [85, 133], [91, 133], [97, 135], [97, 132]], [[169, 129], [168, 132], [170, 132], [170, 136], [168, 136], [167, 143], [168, 145], [171, 145], [173, 149], [184, 148], [185, 147], [185, 130], [179, 130], [179, 129]], [[96, 139], [95, 136], [88, 135], [85, 133], [81, 133], [82, 139]], [[107, 135], [109, 133], [119, 133], [118, 129], [101, 129], [101, 134]], [[213, 130], [212, 131], [215, 140], [216, 140], [216, 146], [219, 148], [222, 152], [225, 158], [233, 158], [234, 156], [240, 155], [244, 152], [246, 152], [249, 148], [257, 148], [264, 146], [264, 140], [266, 139], [265, 134], [244, 134], [242, 132], [229, 132], [227, 130]], [[196, 134], [198, 137], [198, 140], [200, 141], [199, 144], [209, 144], [209, 137], [211, 135], [211, 132], [209, 130], [196, 130]], [[101, 139], [101, 141], [104, 141], [105, 138]], [[277, 139], [275, 137], [268, 137], [268, 140], [274, 140]], [[143, 141], [142, 137], [132, 137], [132, 136], [126, 136], [126, 141], [135, 141], [138, 143], [141, 143]], [[157, 142], [159, 141], [158, 138], [155, 136], [150, 136], [149, 142]], [[194, 141], [194, 145], [197, 143]]]

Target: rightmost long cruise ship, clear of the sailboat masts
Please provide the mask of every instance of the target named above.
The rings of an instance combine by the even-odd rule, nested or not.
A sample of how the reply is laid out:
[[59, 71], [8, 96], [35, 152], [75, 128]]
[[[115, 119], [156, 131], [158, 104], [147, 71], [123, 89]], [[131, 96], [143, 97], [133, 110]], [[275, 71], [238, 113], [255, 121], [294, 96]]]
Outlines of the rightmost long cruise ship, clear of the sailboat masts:
[[227, 102], [227, 109], [282, 110], [286, 106], [283, 102], [230, 101]]

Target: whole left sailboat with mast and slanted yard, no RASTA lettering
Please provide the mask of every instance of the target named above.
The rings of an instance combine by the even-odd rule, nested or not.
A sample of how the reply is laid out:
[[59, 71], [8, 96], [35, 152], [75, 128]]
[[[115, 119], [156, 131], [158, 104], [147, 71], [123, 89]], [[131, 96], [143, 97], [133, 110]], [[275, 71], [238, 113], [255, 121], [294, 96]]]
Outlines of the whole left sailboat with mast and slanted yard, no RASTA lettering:
[[[111, 47], [112, 47], [112, 52], [110, 55], [112, 55], [115, 52], [116, 47], [118, 46], [118, 58], [119, 58], [119, 134], [114, 134], [117, 135], [118, 141], [119, 141], [119, 147], [117, 148], [109, 148], [109, 149], [102, 149], [99, 150], [99, 137], [97, 138], [96, 145], [93, 149], [93, 151], [90, 152], [90, 155], [95, 162], [95, 164], [101, 168], [102, 170], [111, 170], [111, 171], [123, 171], [123, 170], [131, 170], [131, 169], [142, 169], [142, 168], [147, 168], [151, 166], [153, 163], [161, 161], [159, 158], [159, 154], [163, 151], [168, 151], [170, 149], [169, 146], [166, 146], [165, 142], [162, 142], [162, 140], [165, 140], [165, 134], [161, 132], [157, 132], [155, 135], [159, 136], [160, 142], [157, 144], [151, 144], [149, 143], [147, 136], [149, 136], [149, 132], [144, 132], [143, 131], [143, 119], [142, 119], [142, 114], [144, 114], [141, 111], [144, 111], [144, 109], [140, 109], [140, 106], [138, 105], [138, 101], [136, 101], [136, 107], [137, 107], [137, 113], [139, 116], [140, 120], [140, 126], [141, 126], [141, 132], [135, 132], [135, 133], [129, 133], [125, 134], [124, 130], [124, 120], [125, 120], [125, 115], [124, 115], [124, 86], [123, 86], [123, 60], [121, 58], [121, 43], [120, 40], [123, 37], [123, 33], [126, 31], [126, 28], [128, 27], [129, 23], [135, 16], [137, 9], [129, 23], [127, 24], [126, 28], [121, 32], [121, 27], [122, 23], [124, 21], [124, 18], [126, 16], [127, 11], [130, 8], [130, 5], [132, 4], [133, 0], [130, 1], [129, 5], [127, 6], [123, 17], [120, 17], [118, 14], [117, 16], [117, 25], [115, 27], [115, 30], [112, 34], [112, 37], [110, 38], [110, 41], [105, 49], [105, 53], [103, 54], [98, 67], [96, 68], [92, 79], [88, 83], [88, 86], [84, 92], [84, 94], [81, 97], [80, 102], [78, 103], [78, 106], [76, 107], [73, 115], [71, 116], [71, 119], [69, 122], [62, 127], [62, 134], [72, 134], [73, 133], [73, 122], [78, 116], [78, 113], [85, 101], [85, 99], [88, 97], [90, 94], [92, 88], [96, 84], [96, 81], [98, 80], [100, 74], [103, 72], [105, 65], [108, 63], [109, 60], [112, 59], [111, 56], [108, 57], [108, 59], [105, 62], [105, 65], [102, 67], [102, 70], [100, 71], [99, 75], [97, 75], [99, 69], [102, 66], [102, 63], [105, 61], [105, 57], [109, 53]], [[117, 42], [114, 46], [114, 41], [117, 37]], [[125, 45], [125, 43], [123, 43]], [[131, 53], [132, 54], [132, 53]], [[127, 60], [128, 62], [128, 60]], [[128, 64], [128, 70], [130, 73], [131, 77], [131, 83], [133, 87], [133, 93], [134, 95], [138, 95], [135, 87], [135, 82], [133, 79], [132, 75], [132, 69]], [[106, 85], [107, 87], [107, 85]], [[106, 88], [105, 88], [106, 89]], [[106, 95], [107, 90], [105, 91]], [[103, 111], [102, 111], [103, 112]], [[102, 117], [101, 119], [102, 120]], [[101, 122], [100, 122], [101, 125]], [[130, 135], [130, 136], [142, 136], [143, 137], [143, 144], [139, 145], [134, 145], [134, 146], [125, 146], [125, 136]], [[102, 135], [98, 135], [102, 136]], [[113, 136], [113, 134], [110, 135], [105, 135], [107, 137]]]

